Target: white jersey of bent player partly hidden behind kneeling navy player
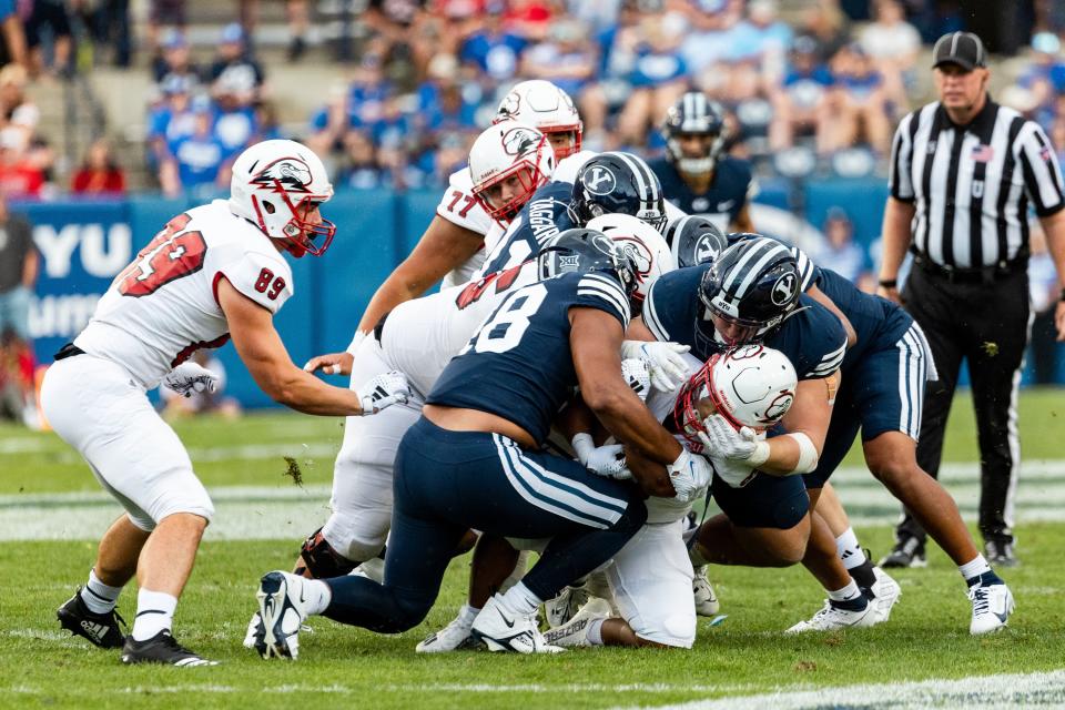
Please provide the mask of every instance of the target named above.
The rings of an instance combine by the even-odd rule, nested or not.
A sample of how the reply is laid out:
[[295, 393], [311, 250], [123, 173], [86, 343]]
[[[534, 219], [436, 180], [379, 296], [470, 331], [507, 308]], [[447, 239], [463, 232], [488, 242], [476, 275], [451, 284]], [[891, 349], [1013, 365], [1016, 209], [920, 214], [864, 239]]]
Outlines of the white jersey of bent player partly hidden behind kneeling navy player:
[[507, 294], [539, 281], [536, 260], [438, 293], [406, 301], [388, 314], [381, 336], [385, 357], [429, 394], [448, 361], [466, 346]]

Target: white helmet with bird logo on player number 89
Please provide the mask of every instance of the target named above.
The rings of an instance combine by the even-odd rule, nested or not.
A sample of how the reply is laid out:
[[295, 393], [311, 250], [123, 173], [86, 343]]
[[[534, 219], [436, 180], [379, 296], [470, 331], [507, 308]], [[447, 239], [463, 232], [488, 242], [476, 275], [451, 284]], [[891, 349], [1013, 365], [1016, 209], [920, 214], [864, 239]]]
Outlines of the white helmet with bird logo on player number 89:
[[233, 163], [230, 210], [273, 240], [282, 240], [294, 256], [321, 255], [329, 247], [336, 225], [307, 221], [313, 206], [333, 196], [325, 165], [314, 151], [295, 141], [263, 141]]

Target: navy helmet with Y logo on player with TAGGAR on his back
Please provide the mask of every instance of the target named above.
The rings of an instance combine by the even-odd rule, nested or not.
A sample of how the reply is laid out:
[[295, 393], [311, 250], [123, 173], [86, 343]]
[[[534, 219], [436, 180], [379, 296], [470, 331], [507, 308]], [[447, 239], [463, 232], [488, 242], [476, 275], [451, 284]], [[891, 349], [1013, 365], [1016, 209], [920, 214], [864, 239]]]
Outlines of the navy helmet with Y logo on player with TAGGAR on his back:
[[580, 225], [604, 214], [631, 214], [659, 232], [666, 230], [662, 185], [632, 153], [600, 153], [585, 163], [577, 171], [569, 209]]

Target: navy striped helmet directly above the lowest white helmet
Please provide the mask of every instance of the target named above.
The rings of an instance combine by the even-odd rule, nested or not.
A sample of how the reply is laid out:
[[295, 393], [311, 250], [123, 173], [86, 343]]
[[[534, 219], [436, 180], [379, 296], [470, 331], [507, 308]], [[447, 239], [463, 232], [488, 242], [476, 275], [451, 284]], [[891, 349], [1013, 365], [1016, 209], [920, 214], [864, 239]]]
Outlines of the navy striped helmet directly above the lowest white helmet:
[[699, 282], [700, 316], [729, 344], [765, 337], [799, 303], [801, 278], [791, 250], [751, 234], [724, 250]]

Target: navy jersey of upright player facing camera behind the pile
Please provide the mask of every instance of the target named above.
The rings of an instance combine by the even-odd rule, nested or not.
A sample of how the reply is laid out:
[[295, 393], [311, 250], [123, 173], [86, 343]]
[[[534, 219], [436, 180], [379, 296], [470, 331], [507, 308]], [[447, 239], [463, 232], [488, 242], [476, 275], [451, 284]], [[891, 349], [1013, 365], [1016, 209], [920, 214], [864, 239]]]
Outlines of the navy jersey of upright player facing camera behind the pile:
[[751, 165], [731, 155], [718, 159], [710, 189], [702, 194], [692, 192], [665, 156], [649, 161], [648, 165], [662, 183], [666, 200], [688, 214], [707, 217], [722, 232], [729, 232], [729, 226], [736, 224], [740, 210], [755, 191]]

